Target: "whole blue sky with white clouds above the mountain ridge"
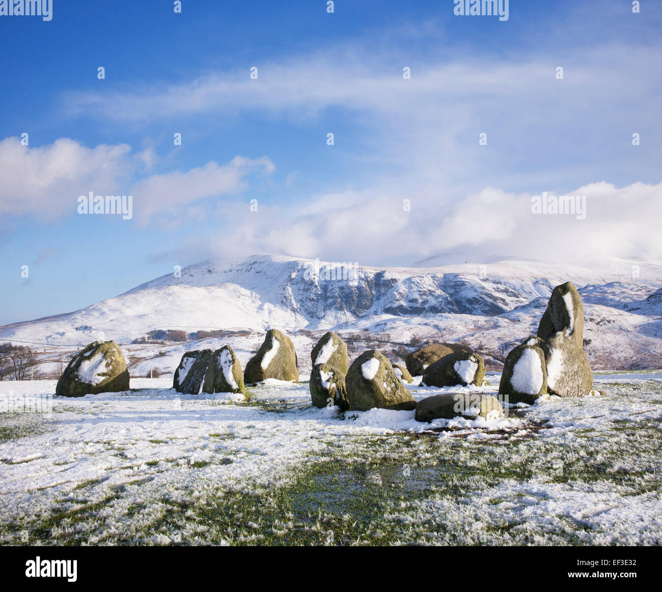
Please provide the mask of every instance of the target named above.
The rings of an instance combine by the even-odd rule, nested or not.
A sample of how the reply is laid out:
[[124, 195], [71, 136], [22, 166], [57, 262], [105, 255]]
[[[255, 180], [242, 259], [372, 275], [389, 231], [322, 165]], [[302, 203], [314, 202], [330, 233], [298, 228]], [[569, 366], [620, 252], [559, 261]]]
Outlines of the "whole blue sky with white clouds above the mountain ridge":
[[[451, 0], [54, 0], [50, 22], [0, 17], [0, 323], [256, 252], [659, 258], [662, 3], [641, 4], [511, 0], [500, 22]], [[77, 214], [89, 191], [132, 194], [133, 218]], [[586, 194], [586, 219], [532, 218], [544, 191]]]

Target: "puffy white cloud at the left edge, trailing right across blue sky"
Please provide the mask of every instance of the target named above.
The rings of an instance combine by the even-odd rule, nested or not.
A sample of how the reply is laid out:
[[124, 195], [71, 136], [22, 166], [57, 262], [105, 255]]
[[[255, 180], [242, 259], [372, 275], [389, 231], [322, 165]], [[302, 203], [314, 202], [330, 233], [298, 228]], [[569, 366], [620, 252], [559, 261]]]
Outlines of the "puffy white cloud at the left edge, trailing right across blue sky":
[[234, 157], [219, 165], [211, 161], [188, 171], [144, 177], [132, 184], [142, 169], [150, 169], [152, 149], [134, 155], [130, 146], [105, 144], [86, 148], [60, 138], [48, 146], [29, 148], [19, 138], [0, 142], [0, 213], [52, 219], [77, 211], [78, 197], [132, 195], [133, 213], [140, 224], [154, 218], [172, 222], [180, 216], [203, 220], [205, 198], [240, 192], [254, 173], [270, 174], [275, 166], [267, 157]]

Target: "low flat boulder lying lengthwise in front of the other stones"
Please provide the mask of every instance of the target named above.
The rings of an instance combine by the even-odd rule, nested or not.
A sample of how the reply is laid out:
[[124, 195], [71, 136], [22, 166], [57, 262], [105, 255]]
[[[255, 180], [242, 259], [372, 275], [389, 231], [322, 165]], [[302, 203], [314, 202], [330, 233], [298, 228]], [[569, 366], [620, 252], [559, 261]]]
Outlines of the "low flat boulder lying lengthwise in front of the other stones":
[[485, 419], [503, 417], [503, 407], [496, 397], [484, 393], [444, 393], [416, 403], [416, 421], [479, 416]]

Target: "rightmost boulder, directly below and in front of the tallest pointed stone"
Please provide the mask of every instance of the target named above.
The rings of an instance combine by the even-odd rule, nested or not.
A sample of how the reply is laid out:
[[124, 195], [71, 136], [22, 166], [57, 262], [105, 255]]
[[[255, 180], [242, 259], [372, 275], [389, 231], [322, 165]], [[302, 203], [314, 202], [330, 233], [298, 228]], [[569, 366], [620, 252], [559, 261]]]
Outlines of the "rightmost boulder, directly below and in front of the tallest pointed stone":
[[542, 345], [547, 366], [547, 392], [558, 397], [583, 397], [591, 392], [593, 372], [585, 351], [565, 331]]

